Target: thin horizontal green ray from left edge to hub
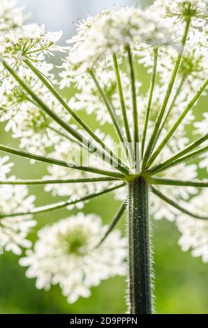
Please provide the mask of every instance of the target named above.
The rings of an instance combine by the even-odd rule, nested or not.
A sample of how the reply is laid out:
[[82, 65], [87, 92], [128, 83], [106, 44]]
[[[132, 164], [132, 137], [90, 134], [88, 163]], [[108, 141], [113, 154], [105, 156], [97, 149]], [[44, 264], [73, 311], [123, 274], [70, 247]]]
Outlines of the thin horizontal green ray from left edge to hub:
[[0, 180], [0, 185], [25, 185], [25, 186], [36, 186], [42, 184], [84, 184], [88, 182], [107, 182], [107, 181], [119, 181], [118, 178], [83, 178], [83, 179], [39, 179], [39, 180]]

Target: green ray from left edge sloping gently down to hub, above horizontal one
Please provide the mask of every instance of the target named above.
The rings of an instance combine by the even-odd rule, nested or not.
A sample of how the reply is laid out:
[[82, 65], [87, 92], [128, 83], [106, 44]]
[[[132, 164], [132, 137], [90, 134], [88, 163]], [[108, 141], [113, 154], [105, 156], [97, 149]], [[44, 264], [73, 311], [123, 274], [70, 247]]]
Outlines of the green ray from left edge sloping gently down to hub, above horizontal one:
[[17, 155], [17, 156], [22, 156], [24, 158], [34, 159], [35, 161], [39, 161], [39, 162], [43, 162], [43, 163], [49, 163], [49, 164], [53, 164], [53, 165], [68, 167], [68, 169], [81, 170], [81, 171], [91, 172], [91, 173], [96, 173], [96, 174], [103, 174], [108, 177], [115, 177], [115, 178], [121, 178], [121, 179], [124, 178], [124, 175], [117, 173], [117, 172], [101, 170], [101, 169], [97, 169], [96, 167], [75, 165], [74, 163], [59, 161], [57, 159], [50, 158], [50, 157], [34, 155], [27, 151], [22, 151], [20, 149], [3, 146], [2, 144], [0, 144], [0, 151], [5, 151], [6, 153]]

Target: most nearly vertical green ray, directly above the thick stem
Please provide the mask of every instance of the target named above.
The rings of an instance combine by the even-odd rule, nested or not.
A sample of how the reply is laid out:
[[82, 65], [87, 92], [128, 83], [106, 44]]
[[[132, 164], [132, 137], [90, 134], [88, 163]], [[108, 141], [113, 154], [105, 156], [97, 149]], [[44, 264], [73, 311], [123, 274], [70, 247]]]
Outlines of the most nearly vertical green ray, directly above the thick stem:
[[126, 50], [128, 53], [128, 62], [130, 66], [130, 74], [131, 74], [131, 91], [132, 91], [132, 105], [133, 105], [133, 144], [134, 144], [134, 166], [135, 170], [139, 170], [140, 165], [140, 149], [139, 149], [139, 126], [138, 126], [138, 104], [137, 104], [137, 95], [135, 88], [135, 71], [133, 67], [133, 58], [131, 55], [131, 47], [130, 45], [126, 45]]

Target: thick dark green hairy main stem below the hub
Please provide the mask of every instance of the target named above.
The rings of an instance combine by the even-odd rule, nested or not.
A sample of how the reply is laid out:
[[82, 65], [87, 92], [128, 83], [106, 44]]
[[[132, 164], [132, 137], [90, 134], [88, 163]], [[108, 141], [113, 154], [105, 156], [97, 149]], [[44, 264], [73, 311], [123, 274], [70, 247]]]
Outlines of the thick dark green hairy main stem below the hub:
[[129, 299], [131, 314], [152, 313], [151, 245], [147, 181], [128, 185]]

